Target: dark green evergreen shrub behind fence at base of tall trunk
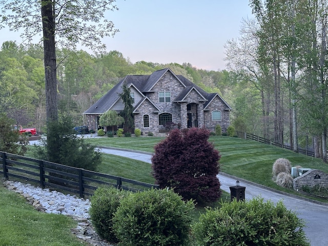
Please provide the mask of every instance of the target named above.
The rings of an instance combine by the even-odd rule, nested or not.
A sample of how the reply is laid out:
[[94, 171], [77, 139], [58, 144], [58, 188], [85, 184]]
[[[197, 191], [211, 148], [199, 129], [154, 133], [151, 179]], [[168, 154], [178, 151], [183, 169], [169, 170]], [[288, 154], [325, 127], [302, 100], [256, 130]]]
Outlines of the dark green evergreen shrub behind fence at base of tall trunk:
[[[69, 116], [60, 116], [58, 121], [49, 123], [47, 138], [42, 140], [43, 146], [36, 146], [38, 159], [96, 171], [101, 162], [101, 153], [95, 151], [85, 138], [78, 137], [73, 129], [74, 124]], [[53, 144], [55, 142], [55, 144]], [[57, 146], [57, 149], [52, 149]]]

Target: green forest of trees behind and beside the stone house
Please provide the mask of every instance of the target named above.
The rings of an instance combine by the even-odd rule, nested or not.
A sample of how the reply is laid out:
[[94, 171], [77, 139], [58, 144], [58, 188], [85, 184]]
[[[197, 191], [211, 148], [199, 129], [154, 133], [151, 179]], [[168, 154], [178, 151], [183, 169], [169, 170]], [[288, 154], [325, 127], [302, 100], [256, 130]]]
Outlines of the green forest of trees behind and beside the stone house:
[[[273, 3], [274, 2], [274, 3]], [[59, 114], [87, 125], [83, 112], [126, 75], [170, 68], [230, 106], [231, 125], [290, 144], [310, 147], [326, 160], [328, 126], [328, 4], [320, 1], [250, 1], [255, 19], [244, 19], [240, 37], [226, 44], [227, 70], [192, 64], [131, 63], [119, 51], [57, 47]], [[43, 47], [4, 42], [0, 50], [0, 110], [17, 125], [46, 131]]]

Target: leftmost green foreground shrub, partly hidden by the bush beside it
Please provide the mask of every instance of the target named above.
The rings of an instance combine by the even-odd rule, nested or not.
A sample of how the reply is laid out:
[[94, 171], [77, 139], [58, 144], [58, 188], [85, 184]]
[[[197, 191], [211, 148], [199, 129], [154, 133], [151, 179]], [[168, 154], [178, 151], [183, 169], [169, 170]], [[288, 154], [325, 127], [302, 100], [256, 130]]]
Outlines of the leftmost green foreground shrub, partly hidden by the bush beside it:
[[92, 224], [98, 235], [109, 242], [118, 242], [113, 232], [113, 217], [120, 199], [127, 194], [114, 187], [99, 187], [91, 197], [89, 214]]

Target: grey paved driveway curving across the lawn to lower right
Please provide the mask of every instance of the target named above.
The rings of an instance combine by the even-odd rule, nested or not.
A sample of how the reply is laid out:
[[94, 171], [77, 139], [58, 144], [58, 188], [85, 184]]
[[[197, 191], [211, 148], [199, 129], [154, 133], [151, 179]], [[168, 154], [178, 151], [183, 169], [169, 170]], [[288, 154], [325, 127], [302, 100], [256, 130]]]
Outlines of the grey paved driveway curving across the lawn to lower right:
[[[151, 154], [149, 153], [109, 148], [102, 148], [101, 151], [107, 154], [124, 156], [151, 163]], [[222, 173], [217, 176], [221, 183], [221, 189], [230, 193], [229, 187], [236, 185], [236, 178]], [[270, 199], [273, 202], [283, 200], [286, 208], [295, 211], [298, 217], [305, 221], [306, 228], [304, 228], [304, 231], [306, 236], [310, 239], [311, 245], [328, 246], [328, 227], [326, 226], [328, 222], [327, 204], [318, 204], [310, 200], [300, 199], [290, 194], [282, 194], [281, 192], [268, 190], [267, 188], [261, 187], [246, 180], [239, 179], [239, 181], [240, 186], [246, 187], [245, 198], [247, 200], [259, 195], [263, 197], [264, 200]]]

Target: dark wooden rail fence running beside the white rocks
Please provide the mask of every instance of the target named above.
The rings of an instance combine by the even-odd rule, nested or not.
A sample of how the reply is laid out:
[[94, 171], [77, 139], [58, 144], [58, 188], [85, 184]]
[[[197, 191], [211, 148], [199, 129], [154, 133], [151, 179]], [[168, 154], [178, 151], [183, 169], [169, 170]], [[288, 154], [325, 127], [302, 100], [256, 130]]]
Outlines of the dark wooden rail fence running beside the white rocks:
[[0, 157], [0, 174], [3, 174], [4, 178], [29, 181], [43, 189], [48, 187], [65, 190], [80, 197], [93, 195], [94, 190], [102, 185], [131, 191], [158, 188], [150, 183], [6, 152], [0, 152]]

